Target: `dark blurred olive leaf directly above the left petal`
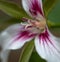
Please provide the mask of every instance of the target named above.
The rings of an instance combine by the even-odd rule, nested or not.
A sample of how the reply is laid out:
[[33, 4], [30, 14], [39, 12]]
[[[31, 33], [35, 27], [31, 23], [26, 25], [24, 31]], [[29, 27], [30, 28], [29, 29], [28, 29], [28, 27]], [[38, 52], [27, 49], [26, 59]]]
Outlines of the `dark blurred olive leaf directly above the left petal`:
[[16, 18], [9, 18], [4, 20], [0, 20], [0, 31], [6, 29], [8, 26], [16, 23], [20, 23], [21, 20], [16, 19]]

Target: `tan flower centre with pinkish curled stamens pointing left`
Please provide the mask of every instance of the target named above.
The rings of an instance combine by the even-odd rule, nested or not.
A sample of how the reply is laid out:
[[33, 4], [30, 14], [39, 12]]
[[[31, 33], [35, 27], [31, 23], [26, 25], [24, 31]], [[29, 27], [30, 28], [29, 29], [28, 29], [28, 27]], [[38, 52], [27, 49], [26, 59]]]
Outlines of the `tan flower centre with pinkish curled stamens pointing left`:
[[22, 18], [22, 20], [28, 23], [26, 25], [26, 28], [28, 28], [28, 29], [31, 29], [33, 27], [41, 32], [43, 32], [45, 30], [45, 27], [46, 27], [46, 20], [45, 19], [39, 21], [39, 20], [30, 20], [27, 18]]

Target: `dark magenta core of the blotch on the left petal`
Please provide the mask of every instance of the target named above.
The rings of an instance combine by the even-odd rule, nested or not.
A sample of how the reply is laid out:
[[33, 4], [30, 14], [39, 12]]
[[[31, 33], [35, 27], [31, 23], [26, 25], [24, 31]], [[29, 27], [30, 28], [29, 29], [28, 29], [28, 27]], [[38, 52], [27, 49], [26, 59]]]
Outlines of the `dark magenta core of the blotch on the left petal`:
[[33, 34], [33, 33], [30, 33], [29, 31], [22, 31], [18, 34], [18, 37], [15, 39], [16, 40], [19, 40], [21, 38], [23, 38], [24, 40], [26, 39], [29, 39], [29, 38], [32, 38], [34, 37], [36, 34]]

